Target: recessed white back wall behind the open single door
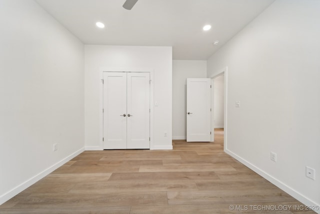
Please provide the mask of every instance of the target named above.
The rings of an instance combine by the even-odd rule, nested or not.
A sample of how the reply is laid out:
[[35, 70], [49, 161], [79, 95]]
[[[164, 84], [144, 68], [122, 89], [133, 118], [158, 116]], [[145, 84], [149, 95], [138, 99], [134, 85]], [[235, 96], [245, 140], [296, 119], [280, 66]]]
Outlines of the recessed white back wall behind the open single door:
[[172, 139], [186, 139], [186, 78], [206, 78], [206, 61], [172, 62]]

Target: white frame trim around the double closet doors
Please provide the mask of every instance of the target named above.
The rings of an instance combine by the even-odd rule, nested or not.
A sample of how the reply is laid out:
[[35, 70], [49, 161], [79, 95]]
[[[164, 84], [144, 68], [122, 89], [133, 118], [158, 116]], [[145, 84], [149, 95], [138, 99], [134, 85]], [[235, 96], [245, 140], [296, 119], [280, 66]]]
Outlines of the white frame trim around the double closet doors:
[[153, 82], [154, 69], [151, 68], [100, 68], [99, 69], [99, 147], [103, 150], [103, 72], [135, 72], [150, 73], [150, 150], [154, 149], [153, 144]]

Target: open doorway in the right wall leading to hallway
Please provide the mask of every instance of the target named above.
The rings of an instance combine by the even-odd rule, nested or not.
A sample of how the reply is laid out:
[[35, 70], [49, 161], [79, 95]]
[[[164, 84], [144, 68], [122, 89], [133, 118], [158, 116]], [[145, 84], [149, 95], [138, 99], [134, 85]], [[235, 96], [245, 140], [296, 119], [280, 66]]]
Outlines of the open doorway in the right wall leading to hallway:
[[[226, 149], [227, 67], [211, 76], [211, 142]], [[223, 142], [221, 141], [223, 139]]]

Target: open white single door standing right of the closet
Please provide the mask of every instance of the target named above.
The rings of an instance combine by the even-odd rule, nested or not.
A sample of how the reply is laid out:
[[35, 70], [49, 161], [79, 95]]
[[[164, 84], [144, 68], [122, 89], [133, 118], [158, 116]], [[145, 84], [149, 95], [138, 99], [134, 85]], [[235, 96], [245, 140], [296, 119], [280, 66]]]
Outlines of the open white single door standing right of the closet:
[[[210, 79], [186, 80], [186, 141], [210, 141]], [[213, 131], [213, 130], [212, 130]]]

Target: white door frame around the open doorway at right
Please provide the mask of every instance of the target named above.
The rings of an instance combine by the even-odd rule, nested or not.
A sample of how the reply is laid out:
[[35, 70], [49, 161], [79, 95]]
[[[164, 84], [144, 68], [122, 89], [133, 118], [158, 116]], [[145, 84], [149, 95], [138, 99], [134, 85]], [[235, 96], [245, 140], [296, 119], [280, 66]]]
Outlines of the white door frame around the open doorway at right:
[[[224, 133], [223, 133], [223, 150], [224, 152], [227, 150], [227, 77], [228, 77], [228, 67], [224, 67], [223, 69], [219, 70], [218, 72], [214, 73], [213, 75], [211, 75], [209, 78], [211, 79], [211, 82], [213, 81], [214, 78], [224, 75], [224, 90], [223, 90], [223, 94], [224, 94], [224, 112], [223, 112], [223, 120], [224, 120]], [[211, 122], [214, 121], [214, 106], [213, 106], [213, 101], [214, 101], [214, 93], [213, 93], [213, 87], [214, 85], [212, 85], [212, 90], [211, 90]], [[214, 124], [213, 124], [214, 125]], [[212, 125], [211, 125], [212, 127]], [[211, 135], [211, 140], [214, 140], [214, 130], [213, 130], [213, 134]]]

